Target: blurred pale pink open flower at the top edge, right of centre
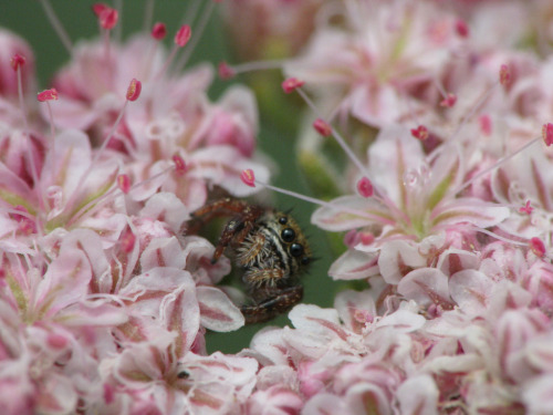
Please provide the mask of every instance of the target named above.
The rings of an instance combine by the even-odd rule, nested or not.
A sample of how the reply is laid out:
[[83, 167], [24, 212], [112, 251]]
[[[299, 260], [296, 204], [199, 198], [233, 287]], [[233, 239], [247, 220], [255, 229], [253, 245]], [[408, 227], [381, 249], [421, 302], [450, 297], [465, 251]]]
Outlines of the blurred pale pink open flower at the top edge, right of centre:
[[285, 65], [290, 76], [326, 86], [323, 106], [384, 126], [406, 116], [409, 106], [422, 108], [416, 98], [436, 97], [432, 76], [460, 40], [453, 15], [410, 1], [355, 2], [341, 17], [342, 25], [328, 21], [306, 53]]

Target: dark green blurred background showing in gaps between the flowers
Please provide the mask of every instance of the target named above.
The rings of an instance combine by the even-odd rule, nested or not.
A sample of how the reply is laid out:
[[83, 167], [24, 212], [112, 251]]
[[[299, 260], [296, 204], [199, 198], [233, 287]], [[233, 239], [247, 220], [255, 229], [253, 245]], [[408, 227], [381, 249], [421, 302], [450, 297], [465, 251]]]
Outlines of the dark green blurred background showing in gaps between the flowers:
[[[73, 43], [82, 39], [98, 37], [97, 21], [92, 12], [92, 4], [95, 2], [90, 0], [52, 1], [52, 7]], [[106, 3], [116, 6], [117, 2], [107, 1]], [[122, 3], [119, 30], [124, 40], [129, 34], [143, 30], [145, 1], [127, 0]], [[169, 45], [173, 41], [174, 33], [181, 24], [189, 3], [189, 1], [184, 0], [163, 0], [155, 3], [154, 22], [161, 21], [166, 23], [168, 29], [166, 44]], [[248, 22], [243, 22], [243, 24], [248, 24]], [[46, 19], [40, 1], [1, 0], [0, 25], [10, 29], [30, 43], [36, 61], [39, 91], [49, 87], [49, 81], [53, 73], [66, 63], [69, 54]], [[192, 33], [194, 29], [192, 24]], [[211, 62], [213, 65], [220, 61], [236, 62], [219, 10], [211, 17], [188, 66], [204, 61]], [[279, 166], [272, 183], [309, 195], [305, 180], [301, 178], [299, 173], [294, 153], [294, 139], [301, 117], [300, 103], [294, 100], [294, 96], [280, 92], [281, 81], [282, 75], [278, 71], [250, 77], [238, 76], [232, 81], [217, 80], [211, 86], [209, 95], [212, 100], [217, 100], [221, 92], [229, 86], [229, 82], [253, 83], [257, 93], [264, 95], [259, 96], [260, 101], [263, 102], [262, 108], [260, 108], [259, 147]], [[332, 263], [332, 257], [335, 255], [331, 253], [326, 235], [310, 224], [310, 217], [315, 206], [282, 195], [269, 195], [265, 203], [283, 210], [293, 208], [294, 217], [302, 224], [310, 237], [312, 250], [317, 260], [312, 264], [309, 274], [303, 278], [304, 302], [332, 307], [338, 286], [327, 277], [327, 270]], [[282, 326], [289, 323], [288, 318], [282, 315], [265, 325]], [[248, 346], [252, 335], [262, 326], [261, 324], [246, 326], [233, 333], [208, 333], [206, 339], [208, 351], [238, 352]]]

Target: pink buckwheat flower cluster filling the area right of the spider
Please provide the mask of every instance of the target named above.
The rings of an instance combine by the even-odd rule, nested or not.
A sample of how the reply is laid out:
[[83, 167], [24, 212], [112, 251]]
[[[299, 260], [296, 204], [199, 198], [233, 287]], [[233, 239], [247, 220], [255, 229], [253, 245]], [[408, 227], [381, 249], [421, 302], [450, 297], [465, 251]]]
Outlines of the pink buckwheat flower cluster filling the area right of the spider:
[[330, 276], [358, 291], [254, 336], [248, 409], [553, 413], [551, 4], [321, 10], [282, 86], [337, 189], [312, 216], [344, 235]]

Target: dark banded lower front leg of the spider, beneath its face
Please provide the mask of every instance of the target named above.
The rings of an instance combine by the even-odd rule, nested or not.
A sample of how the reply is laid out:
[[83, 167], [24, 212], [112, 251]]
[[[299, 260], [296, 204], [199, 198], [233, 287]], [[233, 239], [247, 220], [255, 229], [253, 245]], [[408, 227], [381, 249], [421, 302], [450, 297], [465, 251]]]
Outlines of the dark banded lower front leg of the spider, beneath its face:
[[293, 286], [279, 291], [254, 305], [242, 305], [246, 324], [262, 323], [290, 310], [303, 298], [303, 286]]

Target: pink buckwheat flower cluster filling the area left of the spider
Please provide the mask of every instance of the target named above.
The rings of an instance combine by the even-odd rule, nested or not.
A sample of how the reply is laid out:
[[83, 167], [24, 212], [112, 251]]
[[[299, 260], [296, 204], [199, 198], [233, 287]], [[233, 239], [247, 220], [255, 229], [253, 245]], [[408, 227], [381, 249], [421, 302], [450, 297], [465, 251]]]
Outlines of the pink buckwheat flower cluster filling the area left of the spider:
[[241, 166], [268, 175], [254, 98], [209, 100], [209, 64], [173, 72], [189, 25], [167, 52], [163, 23], [119, 43], [117, 10], [93, 11], [102, 39], [62, 37], [71, 59], [43, 92], [0, 31], [0, 412], [236, 413], [258, 362], [207, 354], [206, 330], [244, 320], [216, 286], [228, 259], [186, 228], [212, 188], [253, 191]]

